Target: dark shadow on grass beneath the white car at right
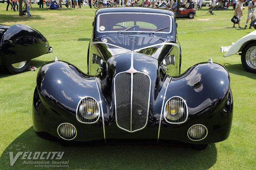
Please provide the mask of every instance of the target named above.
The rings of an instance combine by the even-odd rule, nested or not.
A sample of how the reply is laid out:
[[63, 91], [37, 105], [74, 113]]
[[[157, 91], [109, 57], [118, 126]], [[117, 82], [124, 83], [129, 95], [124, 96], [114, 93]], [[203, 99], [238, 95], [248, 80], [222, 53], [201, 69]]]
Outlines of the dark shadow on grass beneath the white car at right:
[[225, 68], [227, 68], [227, 71], [233, 74], [241, 75], [248, 77], [250, 79], [256, 79], [255, 74], [249, 73], [246, 70], [244, 70], [244, 67], [242, 63], [240, 64], [229, 64], [229, 63], [224, 63], [223, 64]]

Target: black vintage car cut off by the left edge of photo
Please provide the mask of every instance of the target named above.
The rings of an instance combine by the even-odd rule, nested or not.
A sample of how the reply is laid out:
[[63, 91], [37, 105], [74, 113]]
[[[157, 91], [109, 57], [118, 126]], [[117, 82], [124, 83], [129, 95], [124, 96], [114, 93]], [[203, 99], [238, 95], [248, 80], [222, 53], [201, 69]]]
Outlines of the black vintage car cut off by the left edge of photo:
[[52, 52], [47, 39], [26, 25], [0, 25], [0, 65], [12, 73], [26, 71], [31, 59]]

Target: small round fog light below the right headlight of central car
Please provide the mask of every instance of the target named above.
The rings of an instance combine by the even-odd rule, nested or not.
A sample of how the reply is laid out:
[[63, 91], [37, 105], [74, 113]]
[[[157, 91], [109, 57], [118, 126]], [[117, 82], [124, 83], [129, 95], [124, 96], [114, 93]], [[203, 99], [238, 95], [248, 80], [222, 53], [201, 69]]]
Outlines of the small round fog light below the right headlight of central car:
[[188, 130], [188, 137], [192, 141], [200, 141], [206, 138], [208, 130], [204, 125], [193, 125]]

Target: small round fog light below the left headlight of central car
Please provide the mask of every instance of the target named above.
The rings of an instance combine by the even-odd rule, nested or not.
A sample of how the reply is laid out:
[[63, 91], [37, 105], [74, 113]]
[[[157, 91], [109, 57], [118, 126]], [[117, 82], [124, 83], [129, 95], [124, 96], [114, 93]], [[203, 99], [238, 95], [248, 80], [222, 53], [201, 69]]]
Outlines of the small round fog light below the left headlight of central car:
[[65, 140], [72, 140], [76, 137], [76, 127], [70, 123], [62, 123], [57, 128], [58, 135]]

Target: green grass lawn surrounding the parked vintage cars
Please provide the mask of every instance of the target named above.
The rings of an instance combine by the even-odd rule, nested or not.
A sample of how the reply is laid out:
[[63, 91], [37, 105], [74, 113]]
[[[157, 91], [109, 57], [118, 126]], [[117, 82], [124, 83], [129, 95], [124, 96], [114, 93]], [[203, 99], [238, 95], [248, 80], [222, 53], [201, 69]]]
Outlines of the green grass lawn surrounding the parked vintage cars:
[[[40, 68], [54, 57], [87, 70], [87, 47], [92, 34], [96, 9], [47, 10], [32, 4], [32, 17], [20, 17], [6, 11], [0, 3], [0, 24], [25, 24], [40, 31], [53, 47], [53, 53], [32, 59], [31, 65]], [[11, 75], [0, 67], [0, 170], [46, 169], [23, 164], [21, 157], [10, 166], [9, 152], [65, 152], [61, 161], [69, 167], [49, 169], [70, 170], [255, 170], [256, 168], [256, 74], [248, 73], [240, 56], [222, 57], [219, 48], [236, 42], [254, 29], [232, 28], [233, 11], [197, 11], [194, 19], [178, 18], [178, 38], [182, 48], [182, 72], [198, 62], [212, 58], [230, 73], [234, 99], [233, 125], [230, 137], [210, 144], [206, 150], [195, 151], [186, 144], [90, 144], [63, 147], [35, 135], [32, 126], [32, 98], [36, 71]], [[241, 20], [244, 27], [247, 7]], [[24, 49], [26, 50], [26, 49]]]

